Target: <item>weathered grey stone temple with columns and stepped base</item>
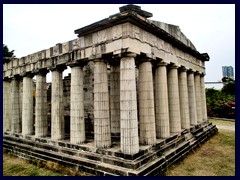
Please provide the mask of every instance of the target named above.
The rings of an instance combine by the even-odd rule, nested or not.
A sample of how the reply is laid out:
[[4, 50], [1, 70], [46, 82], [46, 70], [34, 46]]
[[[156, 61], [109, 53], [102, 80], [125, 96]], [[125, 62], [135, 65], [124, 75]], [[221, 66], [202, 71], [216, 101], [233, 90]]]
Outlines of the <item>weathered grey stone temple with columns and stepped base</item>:
[[77, 39], [4, 59], [5, 151], [93, 175], [162, 175], [217, 132], [208, 54], [139, 6], [119, 10], [75, 30]]

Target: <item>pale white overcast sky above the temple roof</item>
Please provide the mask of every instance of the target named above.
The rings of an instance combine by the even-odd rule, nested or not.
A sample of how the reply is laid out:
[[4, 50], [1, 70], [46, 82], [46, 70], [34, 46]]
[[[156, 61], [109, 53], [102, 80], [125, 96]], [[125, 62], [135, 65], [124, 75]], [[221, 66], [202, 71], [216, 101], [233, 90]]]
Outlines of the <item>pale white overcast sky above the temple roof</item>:
[[[20, 58], [77, 38], [74, 30], [119, 12], [124, 4], [4, 4], [3, 43]], [[235, 73], [234, 4], [137, 4], [150, 19], [178, 25], [200, 53], [207, 52], [206, 82], [222, 79], [222, 66]], [[65, 75], [68, 72], [65, 72]], [[206, 85], [219, 89], [222, 85]]]

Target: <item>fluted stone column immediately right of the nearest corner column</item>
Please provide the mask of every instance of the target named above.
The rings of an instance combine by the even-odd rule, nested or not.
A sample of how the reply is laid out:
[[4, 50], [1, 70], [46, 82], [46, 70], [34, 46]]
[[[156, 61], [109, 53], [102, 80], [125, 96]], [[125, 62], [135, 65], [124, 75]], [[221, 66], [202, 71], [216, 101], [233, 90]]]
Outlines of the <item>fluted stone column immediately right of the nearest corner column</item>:
[[156, 143], [156, 125], [154, 112], [153, 74], [150, 59], [139, 64], [138, 80], [140, 143]]

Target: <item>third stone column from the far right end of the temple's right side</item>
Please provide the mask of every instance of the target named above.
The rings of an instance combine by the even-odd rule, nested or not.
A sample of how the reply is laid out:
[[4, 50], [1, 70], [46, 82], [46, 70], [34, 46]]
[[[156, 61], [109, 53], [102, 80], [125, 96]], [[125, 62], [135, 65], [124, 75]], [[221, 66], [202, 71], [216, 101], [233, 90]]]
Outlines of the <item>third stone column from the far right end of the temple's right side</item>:
[[196, 96], [195, 96], [195, 83], [193, 71], [188, 71], [187, 75], [188, 83], [188, 101], [189, 101], [189, 114], [190, 114], [190, 125], [197, 125], [197, 107], [196, 107]]

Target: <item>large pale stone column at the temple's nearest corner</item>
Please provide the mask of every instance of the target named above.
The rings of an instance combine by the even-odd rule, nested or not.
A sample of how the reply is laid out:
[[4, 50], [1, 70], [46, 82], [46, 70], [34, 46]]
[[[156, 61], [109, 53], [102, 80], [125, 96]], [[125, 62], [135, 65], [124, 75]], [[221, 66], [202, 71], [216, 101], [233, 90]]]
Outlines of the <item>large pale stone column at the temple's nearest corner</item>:
[[120, 145], [124, 154], [139, 151], [135, 57], [128, 54], [120, 61]]

